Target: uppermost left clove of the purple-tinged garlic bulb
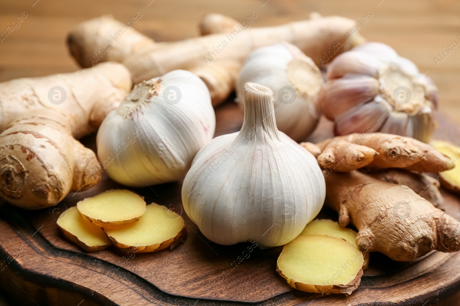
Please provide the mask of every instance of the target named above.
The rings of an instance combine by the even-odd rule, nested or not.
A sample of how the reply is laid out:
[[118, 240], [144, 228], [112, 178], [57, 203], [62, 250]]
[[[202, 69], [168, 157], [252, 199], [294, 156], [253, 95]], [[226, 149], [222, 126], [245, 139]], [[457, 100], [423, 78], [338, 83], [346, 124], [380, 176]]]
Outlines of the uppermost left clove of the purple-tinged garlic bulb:
[[379, 75], [378, 67], [380, 67], [378, 61], [368, 61], [358, 51], [349, 51], [340, 54], [332, 61], [328, 67], [327, 77], [330, 80], [341, 78], [346, 74], [359, 74], [377, 78]]

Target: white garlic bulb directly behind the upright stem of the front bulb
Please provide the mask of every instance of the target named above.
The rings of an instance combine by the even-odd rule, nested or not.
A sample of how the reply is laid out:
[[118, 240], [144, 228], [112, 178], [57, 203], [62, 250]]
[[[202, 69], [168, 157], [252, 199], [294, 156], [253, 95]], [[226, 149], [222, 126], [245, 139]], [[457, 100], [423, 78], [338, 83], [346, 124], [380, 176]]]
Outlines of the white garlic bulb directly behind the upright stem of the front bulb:
[[244, 111], [247, 82], [270, 87], [274, 95], [276, 126], [296, 141], [305, 139], [319, 120], [321, 72], [310, 57], [287, 42], [254, 50], [236, 81], [238, 105]]

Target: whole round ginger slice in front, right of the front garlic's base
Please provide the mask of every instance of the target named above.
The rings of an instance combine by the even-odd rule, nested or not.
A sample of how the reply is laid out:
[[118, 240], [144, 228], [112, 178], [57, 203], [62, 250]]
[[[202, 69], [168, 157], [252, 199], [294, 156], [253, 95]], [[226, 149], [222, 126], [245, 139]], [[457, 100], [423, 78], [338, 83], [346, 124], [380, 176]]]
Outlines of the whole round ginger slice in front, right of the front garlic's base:
[[361, 282], [362, 253], [347, 241], [301, 235], [284, 245], [276, 271], [295, 289], [350, 295]]

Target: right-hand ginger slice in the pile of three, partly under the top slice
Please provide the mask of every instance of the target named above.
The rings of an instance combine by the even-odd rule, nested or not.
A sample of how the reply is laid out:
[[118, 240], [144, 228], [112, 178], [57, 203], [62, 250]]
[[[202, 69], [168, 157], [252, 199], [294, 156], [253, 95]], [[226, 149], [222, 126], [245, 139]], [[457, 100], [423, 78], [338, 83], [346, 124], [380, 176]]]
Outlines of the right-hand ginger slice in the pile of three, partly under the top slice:
[[104, 227], [104, 232], [119, 249], [134, 253], [156, 252], [178, 245], [184, 238], [184, 219], [165, 206], [152, 203], [137, 222]]

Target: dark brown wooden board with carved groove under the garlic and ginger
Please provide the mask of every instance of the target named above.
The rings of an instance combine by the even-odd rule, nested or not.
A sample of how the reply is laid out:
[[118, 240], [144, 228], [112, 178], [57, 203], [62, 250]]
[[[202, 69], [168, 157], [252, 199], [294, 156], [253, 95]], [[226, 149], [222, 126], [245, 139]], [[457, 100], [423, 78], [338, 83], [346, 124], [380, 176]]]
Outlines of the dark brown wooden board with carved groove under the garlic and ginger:
[[[227, 101], [216, 109], [216, 135], [239, 130], [242, 114]], [[440, 120], [438, 133], [460, 133]], [[327, 122], [312, 135], [330, 133]], [[446, 133], [447, 134], [447, 133]], [[438, 134], [442, 136], [442, 134]], [[327, 136], [326, 136], [327, 137]], [[454, 139], [454, 140], [455, 140]], [[94, 146], [94, 137], [83, 142]], [[457, 305], [460, 297], [460, 253], [433, 252], [413, 262], [391, 261], [379, 253], [361, 285], [349, 297], [293, 290], [276, 271], [281, 247], [252, 248], [249, 243], [217, 245], [206, 239], [181, 206], [181, 184], [132, 189], [173, 208], [186, 220], [187, 238], [174, 250], [125, 254], [110, 247], [86, 253], [64, 239], [56, 220], [66, 208], [103, 190], [122, 187], [104, 176], [97, 186], [69, 194], [60, 204], [40, 211], [0, 206], [0, 286], [25, 305]], [[125, 187], [122, 187], [125, 188]], [[447, 212], [460, 219], [460, 201], [443, 191]], [[336, 218], [323, 208], [319, 217]], [[246, 250], [247, 258], [237, 258]], [[13, 259], [14, 258], [14, 259]]]

